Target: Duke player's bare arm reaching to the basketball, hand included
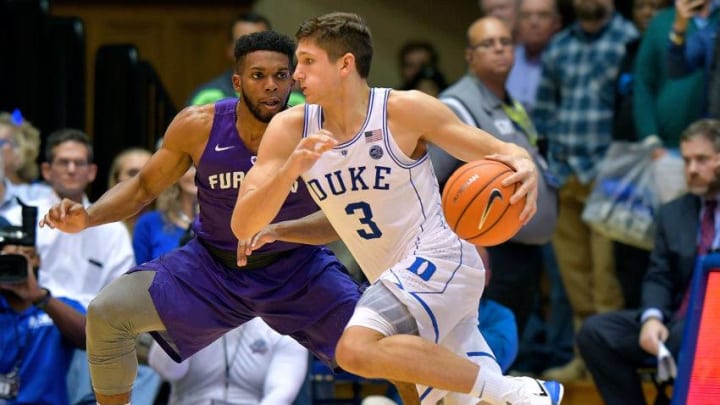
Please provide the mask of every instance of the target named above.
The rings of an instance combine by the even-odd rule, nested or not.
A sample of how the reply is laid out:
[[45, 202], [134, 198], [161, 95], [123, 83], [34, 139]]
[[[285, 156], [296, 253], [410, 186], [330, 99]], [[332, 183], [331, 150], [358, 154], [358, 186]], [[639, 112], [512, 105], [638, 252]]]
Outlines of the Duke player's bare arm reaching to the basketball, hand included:
[[425, 142], [431, 142], [464, 162], [491, 158], [506, 163], [515, 173], [505, 184], [521, 184], [510, 202], [527, 196], [520, 215], [524, 223], [535, 214], [538, 169], [525, 149], [463, 123], [445, 104], [419, 91], [393, 91], [388, 117], [396, 142], [408, 156], [418, 157]]

